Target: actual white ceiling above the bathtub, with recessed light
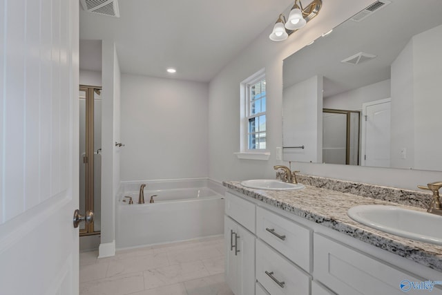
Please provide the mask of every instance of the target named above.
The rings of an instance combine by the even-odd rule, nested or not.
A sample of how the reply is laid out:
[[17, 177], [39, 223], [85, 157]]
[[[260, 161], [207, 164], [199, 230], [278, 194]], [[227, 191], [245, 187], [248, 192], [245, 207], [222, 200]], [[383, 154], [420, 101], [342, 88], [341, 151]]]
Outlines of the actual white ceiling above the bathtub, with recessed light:
[[[122, 73], [209, 82], [292, 3], [119, 0], [120, 17], [80, 6], [80, 68], [101, 70], [99, 42], [86, 40], [106, 39], [115, 41]], [[166, 73], [168, 67], [177, 73]]]

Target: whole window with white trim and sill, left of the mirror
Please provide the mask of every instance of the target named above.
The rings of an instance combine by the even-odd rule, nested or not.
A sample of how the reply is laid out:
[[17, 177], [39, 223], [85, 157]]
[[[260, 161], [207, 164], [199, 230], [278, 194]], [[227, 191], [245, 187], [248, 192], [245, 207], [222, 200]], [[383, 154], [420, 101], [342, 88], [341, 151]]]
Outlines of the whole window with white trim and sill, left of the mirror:
[[240, 159], [269, 160], [265, 69], [240, 84]]

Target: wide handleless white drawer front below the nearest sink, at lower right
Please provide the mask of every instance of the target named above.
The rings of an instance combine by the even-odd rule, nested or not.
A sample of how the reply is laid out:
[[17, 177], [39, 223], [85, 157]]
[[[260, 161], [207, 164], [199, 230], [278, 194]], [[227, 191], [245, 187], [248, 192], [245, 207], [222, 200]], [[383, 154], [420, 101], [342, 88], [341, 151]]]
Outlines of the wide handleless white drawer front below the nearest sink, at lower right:
[[[423, 281], [320, 234], [314, 234], [314, 276], [341, 295], [399, 295], [404, 294], [400, 287], [403, 280]], [[434, 288], [431, 293], [441, 294], [441, 290]]]

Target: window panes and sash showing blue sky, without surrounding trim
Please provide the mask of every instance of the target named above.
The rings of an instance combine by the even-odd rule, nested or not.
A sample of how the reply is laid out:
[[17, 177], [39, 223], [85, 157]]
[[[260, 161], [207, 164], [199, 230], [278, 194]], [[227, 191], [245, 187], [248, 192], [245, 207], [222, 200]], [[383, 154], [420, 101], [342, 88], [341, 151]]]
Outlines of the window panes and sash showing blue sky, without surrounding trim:
[[266, 149], [265, 78], [247, 84], [247, 149]]

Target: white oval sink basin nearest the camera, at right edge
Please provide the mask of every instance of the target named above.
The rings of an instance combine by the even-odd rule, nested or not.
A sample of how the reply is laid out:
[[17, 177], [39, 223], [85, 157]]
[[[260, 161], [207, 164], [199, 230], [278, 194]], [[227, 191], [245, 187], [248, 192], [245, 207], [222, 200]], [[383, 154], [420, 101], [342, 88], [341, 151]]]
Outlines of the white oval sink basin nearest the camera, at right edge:
[[442, 216], [384, 205], [352, 207], [347, 211], [347, 215], [380, 231], [442, 245]]

